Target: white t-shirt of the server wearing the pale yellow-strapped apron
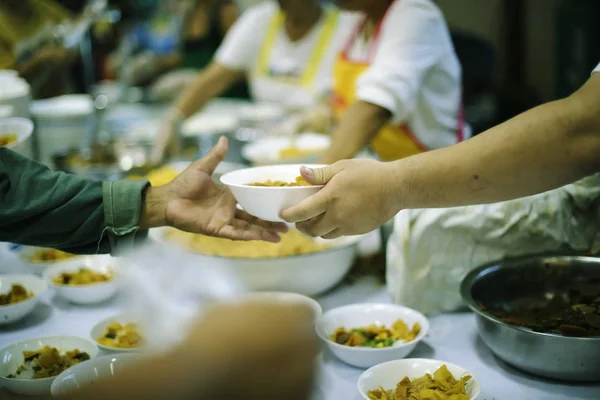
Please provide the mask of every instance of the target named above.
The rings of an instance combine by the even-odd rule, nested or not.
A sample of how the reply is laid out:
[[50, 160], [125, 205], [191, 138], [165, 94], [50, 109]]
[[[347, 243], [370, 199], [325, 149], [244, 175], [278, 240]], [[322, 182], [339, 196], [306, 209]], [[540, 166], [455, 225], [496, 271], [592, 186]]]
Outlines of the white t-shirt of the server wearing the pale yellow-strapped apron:
[[[353, 13], [340, 13], [335, 33], [321, 59], [313, 85], [311, 88], [304, 88], [256, 74], [256, 64], [268, 27], [278, 11], [279, 6], [276, 2], [267, 1], [244, 12], [230, 29], [215, 59], [227, 68], [245, 71], [248, 74], [250, 90], [255, 101], [279, 103], [287, 107], [312, 106], [321, 96], [331, 91], [333, 63], [359, 16]], [[313, 29], [296, 42], [291, 42], [284, 29], [280, 29], [268, 62], [271, 75], [302, 75], [321, 38], [324, 16], [325, 13]]]

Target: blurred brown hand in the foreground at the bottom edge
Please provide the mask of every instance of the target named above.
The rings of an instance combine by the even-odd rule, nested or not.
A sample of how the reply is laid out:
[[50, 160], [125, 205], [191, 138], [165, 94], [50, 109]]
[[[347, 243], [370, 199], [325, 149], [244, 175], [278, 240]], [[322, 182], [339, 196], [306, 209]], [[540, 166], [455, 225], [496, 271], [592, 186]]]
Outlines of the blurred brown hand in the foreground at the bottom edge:
[[[301, 306], [249, 302], [216, 307], [184, 343], [187, 365], [179, 371], [192, 372], [191, 382], [210, 381], [208, 391], [203, 385], [202, 398], [306, 400], [317, 354], [312, 318]], [[196, 373], [201, 365], [208, 377]]]

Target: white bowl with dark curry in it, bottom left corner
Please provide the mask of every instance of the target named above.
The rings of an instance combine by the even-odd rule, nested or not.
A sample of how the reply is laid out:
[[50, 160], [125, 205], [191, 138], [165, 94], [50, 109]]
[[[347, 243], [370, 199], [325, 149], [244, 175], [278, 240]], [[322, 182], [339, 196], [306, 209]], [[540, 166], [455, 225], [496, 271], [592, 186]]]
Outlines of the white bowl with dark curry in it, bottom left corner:
[[[37, 355], [40, 350], [43, 354]], [[97, 354], [93, 342], [75, 336], [25, 340], [0, 350], [0, 383], [16, 394], [49, 395], [58, 374]]]

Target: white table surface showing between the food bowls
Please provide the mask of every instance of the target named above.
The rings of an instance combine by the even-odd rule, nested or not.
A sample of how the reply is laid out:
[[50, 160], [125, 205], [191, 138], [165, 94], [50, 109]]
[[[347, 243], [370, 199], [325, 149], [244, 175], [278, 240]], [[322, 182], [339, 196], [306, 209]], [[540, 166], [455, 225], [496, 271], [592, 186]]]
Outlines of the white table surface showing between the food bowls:
[[[2, 262], [4, 261], [4, 262]], [[6, 265], [0, 257], [0, 266]], [[2, 271], [2, 269], [0, 269]], [[374, 278], [344, 284], [320, 297], [324, 310], [356, 302], [389, 302], [386, 290]], [[47, 293], [36, 311], [19, 324], [0, 328], [0, 347], [30, 337], [79, 335], [89, 337], [92, 326], [118, 312], [117, 300], [102, 306], [71, 305]], [[431, 331], [411, 357], [435, 358], [458, 364], [479, 379], [480, 400], [598, 400], [600, 385], [556, 383], [521, 373], [498, 360], [477, 336], [475, 318], [456, 313], [430, 318]], [[324, 352], [321, 393], [325, 400], [360, 400], [356, 381], [363, 370], [345, 365]], [[599, 372], [600, 373], [600, 372]], [[0, 391], [0, 398], [12, 398]], [[322, 399], [319, 399], [322, 400]]]

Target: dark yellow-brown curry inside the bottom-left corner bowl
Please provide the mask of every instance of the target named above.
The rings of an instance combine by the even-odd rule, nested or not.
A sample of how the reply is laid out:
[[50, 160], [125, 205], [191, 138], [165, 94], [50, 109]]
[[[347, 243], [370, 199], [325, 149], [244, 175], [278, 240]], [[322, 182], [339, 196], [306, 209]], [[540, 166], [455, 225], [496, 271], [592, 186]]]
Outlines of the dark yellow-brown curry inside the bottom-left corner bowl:
[[55, 347], [45, 346], [37, 351], [24, 351], [24, 363], [9, 379], [42, 379], [59, 375], [61, 372], [83, 361], [90, 355], [77, 349], [61, 355]]

